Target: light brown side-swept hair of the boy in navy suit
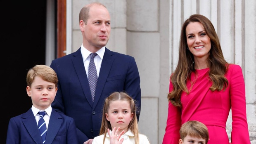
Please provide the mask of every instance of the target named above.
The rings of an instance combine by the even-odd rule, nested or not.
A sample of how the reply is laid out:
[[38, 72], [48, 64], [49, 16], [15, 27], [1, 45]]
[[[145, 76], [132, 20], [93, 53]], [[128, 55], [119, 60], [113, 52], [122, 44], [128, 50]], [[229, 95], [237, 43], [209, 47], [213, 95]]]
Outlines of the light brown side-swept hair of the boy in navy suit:
[[58, 85], [57, 74], [50, 66], [36, 65], [33, 68], [30, 68], [27, 73], [27, 86], [31, 87], [36, 76], [39, 76], [47, 82], [54, 83], [55, 87]]

